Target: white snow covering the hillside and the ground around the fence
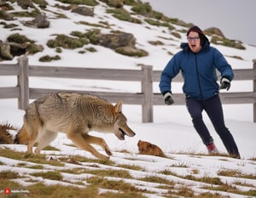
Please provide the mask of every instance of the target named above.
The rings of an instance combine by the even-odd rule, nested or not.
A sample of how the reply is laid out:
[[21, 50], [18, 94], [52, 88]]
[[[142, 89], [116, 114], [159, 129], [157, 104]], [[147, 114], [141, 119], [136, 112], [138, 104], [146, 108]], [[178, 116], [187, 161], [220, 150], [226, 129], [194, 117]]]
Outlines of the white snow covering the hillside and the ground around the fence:
[[[55, 1], [48, 1], [50, 5], [54, 5]], [[58, 2], [59, 3], [59, 2]], [[75, 22], [80, 20], [86, 20], [90, 23], [96, 23], [97, 21], [106, 20], [111, 25], [113, 30], [131, 32], [137, 37], [137, 48], [143, 48], [148, 51], [149, 56], [143, 58], [131, 58], [123, 55], [115, 54], [113, 50], [103, 48], [100, 46], [85, 46], [86, 48], [92, 46], [96, 48], [96, 53], [86, 52], [85, 54], [79, 54], [79, 50], [83, 48], [77, 48], [74, 50], [63, 49], [61, 54], [61, 60], [53, 61], [49, 63], [41, 63], [38, 61], [43, 55], [51, 54], [54, 56], [55, 50], [44, 47], [44, 52], [29, 56], [29, 64], [31, 65], [61, 65], [61, 66], [75, 66], [75, 67], [94, 67], [94, 68], [118, 68], [118, 69], [139, 69], [139, 64], [153, 65], [154, 70], [162, 70], [166, 63], [171, 59], [171, 56], [167, 54], [167, 51], [176, 53], [179, 50], [180, 42], [185, 42], [183, 35], [182, 39], [177, 39], [169, 34], [165, 27], [156, 27], [148, 24], [136, 25], [129, 22], [120, 21], [114, 19], [109, 14], [103, 13], [105, 10], [104, 3], [95, 8], [95, 17], [85, 17], [79, 14], [70, 13], [69, 11], [61, 10], [63, 14], [68, 15], [68, 19], [57, 20], [54, 12], [58, 10], [54, 7], [49, 7], [49, 11], [44, 11], [48, 14], [50, 20], [50, 28], [44, 30], [32, 29], [29, 27], [22, 27], [22, 34], [37, 41], [38, 43], [46, 43], [50, 38], [53, 38], [54, 33], [69, 34], [71, 31], [84, 31], [89, 30], [91, 27], [87, 25], [78, 25]], [[24, 20], [24, 19], [23, 19]], [[31, 20], [31, 19], [27, 19]], [[13, 21], [20, 24], [19, 20]], [[177, 26], [177, 29], [183, 29], [183, 27]], [[3, 29], [0, 39], [5, 40], [9, 35], [8, 29]], [[41, 31], [44, 31], [42, 33]], [[108, 31], [103, 29], [102, 31]], [[20, 32], [20, 33], [21, 33]], [[15, 33], [15, 31], [13, 32]], [[40, 35], [40, 37], [38, 37]], [[163, 37], [169, 39], [163, 39]], [[164, 46], [152, 46], [148, 41], [160, 40], [165, 43]], [[252, 68], [253, 59], [255, 59], [256, 48], [252, 46], [246, 46], [246, 50], [238, 50], [234, 48], [226, 48], [223, 46], [215, 46], [218, 48], [228, 59], [234, 69], [238, 68]], [[242, 57], [242, 60], [231, 58], [234, 56]], [[3, 63], [15, 63], [16, 58], [12, 61], [6, 61]], [[0, 86], [15, 86], [14, 76], [1, 76]], [[140, 87], [136, 83], [132, 82], [106, 82], [106, 81], [86, 81], [86, 80], [66, 80], [66, 79], [54, 79], [54, 78], [38, 78], [33, 77], [30, 81], [30, 86], [33, 88], [63, 88], [63, 89], [83, 89], [83, 90], [104, 90], [106, 88], [110, 90], [125, 90], [127, 92], [137, 92]], [[181, 93], [181, 84], [174, 86], [175, 93]], [[232, 83], [230, 91], [252, 91], [252, 82], [234, 82]], [[154, 85], [155, 92], [159, 92], [158, 84]], [[118, 101], [117, 101], [118, 102]], [[143, 190], [150, 190], [153, 194], [145, 194], [147, 197], [163, 197], [168, 190], [160, 189], [159, 184], [143, 182], [136, 178], [143, 178], [147, 176], [159, 176], [168, 180], [174, 181], [177, 184], [188, 185], [193, 188], [195, 193], [208, 192], [209, 190], [203, 190], [203, 186], [212, 186], [212, 184], [206, 184], [202, 182], [195, 182], [193, 180], [185, 179], [182, 177], [165, 175], [160, 173], [162, 171], [171, 171], [179, 176], [193, 175], [195, 177], [218, 177], [222, 182], [227, 184], [234, 184], [239, 181], [241, 184], [251, 184], [252, 187], [238, 186], [240, 190], [256, 190], [256, 181], [247, 178], [235, 178], [218, 176], [220, 170], [231, 169], [238, 170], [241, 173], [252, 174], [256, 173], [256, 162], [252, 159], [256, 157], [256, 123], [253, 123], [253, 105], [223, 105], [224, 117], [227, 127], [230, 128], [233, 134], [238, 148], [241, 153], [241, 160], [233, 159], [227, 156], [207, 156], [207, 149], [202, 144], [201, 139], [195, 132], [192, 126], [189, 113], [186, 107], [183, 105], [171, 105], [171, 106], [154, 106], [154, 122], [142, 123], [142, 110], [139, 105], [123, 105], [123, 112], [128, 118], [128, 125], [137, 133], [135, 137], [127, 137], [125, 141], [120, 141], [115, 138], [113, 134], [103, 134], [92, 132], [96, 136], [102, 137], [108, 143], [108, 146], [113, 150], [113, 156], [110, 158], [115, 164], [126, 164], [143, 167], [143, 171], [129, 171], [133, 179], [124, 178], [108, 178], [108, 179], [122, 179], [125, 182], [134, 184], [137, 188]], [[24, 110], [18, 110], [16, 99], [0, 99], [0, 123], [10, 123], [14, 127], [20, 128], [22, 126], [22, 119]], [[212, 132], [212, 137], [218, 150], [222, 154], [226, 154], [224, 144], [218, 138], [217, 133], [214, 131], [211, 122], [204, 115], [207, 127]], [[15, 135], [15, 131], [12, 132]], [[137, 141], [139, 139], [157, 144], [162, 150], [164, 150], [168, 158], [156, 157], [156, 156], [143, 156], [138, 155]], [[88, 158], [94, 158], [90, 153], [67, 146], [72, 142], [66, 138], [65, 134], [59, 133], [57, 139], [51, 143], [52, 146], [60, 149], [61, 151], [49, 151], [44, 150], [43, 153], [46, 156], [85, 156]], [[1, 148], [9, 148], [12, 150], [26, 151], [26, 145], [21, 144], [1, 144]], [[103, 150], [98, 148], [102, 153]], [[127, 153], [121, 152], [121, 150], [127, 150]], [[26, 167], [15, 167], [20, 161], [16, 161], [7, 157], [0, 156], [0, 161], [4, 161], [4, 165], [0, 165], [0, 171], [9, 170], [12, 167], [12, 171], [32, 178], [28, 173], [41, 172], [43, 170], [33, 170]], [[32, 162], [26, 162], [26, 164], [33, 164]], [[106, 166], [98, 164], [100, 168], [112, 169], [119, 167]], [[54, 167], [50, 165], [44, 165], [45, 171], [61, 168], [73, 168], [73, 167], [86, 167], [91, 168], [88, 163], [82, 162], [81, 165], [74, 165], [65, 163], [65, 167]], [[199, 173], [194, 174], [193, 170], [198, 170]], [[81, 179], [89, 178], [91, 175], [80, 174], [70, 175], [62, 173], [64, 180], [81, 181]], [[17, 180], [20, 184], [26, 186], [29, 183], [26, 182], [26, 177], [21, 180]], [[37, 178], [38, 179], [38, 178]], [[50, 179], [44, 179], [45, 184], [67, 184], [67, 182], [53, 181]], [[86, 186], [86, 182], [83, 185], [76, 185], [80, 188]], [[25, 188], [26, 189], [26, 188]], [[106, 190], [101, 190], [103, 193]], [[210, 190], [212, 192], [212, 190]], [[215, 191], [216, 192], [216, 191]], [[212, 192], [214, 193], [214, 192]], [[218, 191], [219, 195], [230, 197], [247, 197], [246, 195], [232, 194], [229, 192]]]

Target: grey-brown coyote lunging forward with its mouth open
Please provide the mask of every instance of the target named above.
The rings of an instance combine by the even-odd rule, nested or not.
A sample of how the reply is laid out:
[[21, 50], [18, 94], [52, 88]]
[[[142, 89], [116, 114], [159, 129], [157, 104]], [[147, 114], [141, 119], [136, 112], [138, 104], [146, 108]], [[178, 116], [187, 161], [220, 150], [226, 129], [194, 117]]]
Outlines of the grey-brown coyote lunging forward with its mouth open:
[[[27, 106], [24, 124], [16, 134], [15, 144], [27, 144], [27, 152], [32, 153], [33, 145], [38, 143], [35, 154], [39, 154], [58, 132], [62, 132], [81, 149], [99, 159], [108, 159], [112, 153], [105, 140], [88, 133], [114, 133], [118, 139], [124, 140], [125, 135], [135, 135], [126, 122], [121, 101], [112, 105], [90, 94], [51, 93]], [[90, 144], [102, 146], [108, 156], [100, 154]]]

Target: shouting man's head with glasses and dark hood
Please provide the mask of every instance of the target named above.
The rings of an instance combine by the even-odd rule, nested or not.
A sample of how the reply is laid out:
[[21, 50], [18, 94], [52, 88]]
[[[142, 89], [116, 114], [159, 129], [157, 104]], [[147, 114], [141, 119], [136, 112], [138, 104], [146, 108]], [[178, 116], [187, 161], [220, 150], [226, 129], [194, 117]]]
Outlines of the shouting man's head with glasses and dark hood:
[[189, 48], [192, 52], [198, 53], [205, 42], [209, 42], [207, 37], [198, 26], [193, 26], [187, 32]]

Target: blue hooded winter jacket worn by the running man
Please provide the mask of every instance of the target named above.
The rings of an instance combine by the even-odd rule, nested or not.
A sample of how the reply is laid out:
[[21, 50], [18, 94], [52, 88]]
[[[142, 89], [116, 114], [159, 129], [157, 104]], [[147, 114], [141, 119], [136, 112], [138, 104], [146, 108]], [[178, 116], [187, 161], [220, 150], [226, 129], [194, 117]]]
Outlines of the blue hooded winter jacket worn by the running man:
[[218, 93], [216, 69], [222, 77], [233, 79], [231, 66], [217, 48], [205, 42], [201, 51], [193, 53], [188, 43], [182, 43], [182, 51], [175, 54], [160, 76], [160, 92], [172, 92], [172, 78], [181, 71], [183, 75], [183, 93], [186, 97], [198, 100], [212, 98]]

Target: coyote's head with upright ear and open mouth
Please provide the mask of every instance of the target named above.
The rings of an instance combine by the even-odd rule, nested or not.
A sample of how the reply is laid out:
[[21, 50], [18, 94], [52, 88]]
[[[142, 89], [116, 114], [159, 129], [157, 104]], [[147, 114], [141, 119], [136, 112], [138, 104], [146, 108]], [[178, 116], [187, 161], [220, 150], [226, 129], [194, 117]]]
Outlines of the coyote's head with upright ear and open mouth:
[[135, 136], [135, 133], [131, 130], [127, 125], [127, 119], [125, 115], [122, 113], [122, 102], [119, 101], [116, 105], [114, 105], [114, 114], [116, 116], [115, 122], [113, 123], [113, 130], [116, 137], [120, 140], [125, 139], [125, 135], [130, 137]]

